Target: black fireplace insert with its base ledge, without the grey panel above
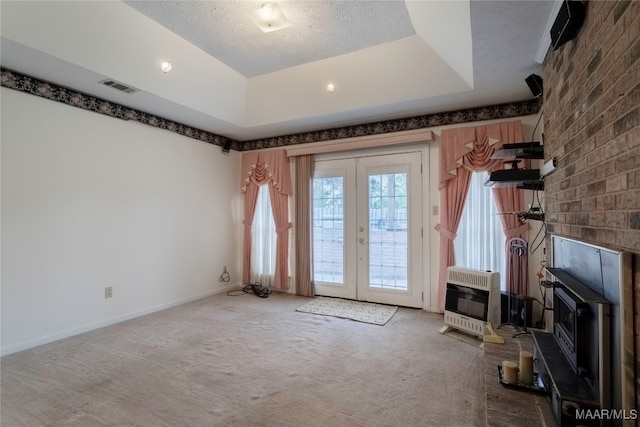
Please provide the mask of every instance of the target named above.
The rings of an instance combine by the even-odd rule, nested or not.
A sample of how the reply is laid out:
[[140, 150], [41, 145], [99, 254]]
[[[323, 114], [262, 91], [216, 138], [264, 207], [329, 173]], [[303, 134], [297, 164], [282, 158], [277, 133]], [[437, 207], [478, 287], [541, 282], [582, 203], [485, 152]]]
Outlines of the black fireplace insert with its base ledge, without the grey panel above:
[[[578, 411], [609, 408], [610, 301], [564, 270], [547, 269], [554, 283], [553, 333], [533, 332], [535, 363], [562, 426]], [[602, 387], [601, 387], [602, 386]], [[580, 425], [599, 426], [599, 420]]]

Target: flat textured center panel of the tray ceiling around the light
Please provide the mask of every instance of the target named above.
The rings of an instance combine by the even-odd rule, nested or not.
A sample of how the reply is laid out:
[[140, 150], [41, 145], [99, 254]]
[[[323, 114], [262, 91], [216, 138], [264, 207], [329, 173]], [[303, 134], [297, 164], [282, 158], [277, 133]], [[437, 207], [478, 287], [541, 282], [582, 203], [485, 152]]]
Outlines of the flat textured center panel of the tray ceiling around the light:
[[126, 1], [245, 77], [415, 34], [402, 1], [283, 1], [295, 25], [263, 33], [250, 13], [257, 1]]

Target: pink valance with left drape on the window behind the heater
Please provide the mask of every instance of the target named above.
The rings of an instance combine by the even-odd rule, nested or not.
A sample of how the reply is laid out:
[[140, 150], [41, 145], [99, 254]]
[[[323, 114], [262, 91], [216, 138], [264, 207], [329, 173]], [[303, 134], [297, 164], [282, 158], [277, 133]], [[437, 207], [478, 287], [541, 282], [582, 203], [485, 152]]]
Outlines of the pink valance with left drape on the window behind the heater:
[[[522, 141], [522, 124], [519, 120], [442, 130], [439, 184], [440, 223], [435, 227], [440, 233], [440, 262], [438, 265], [438, 307], [440, 310], [444, 310], [447, 267], [455, 265], [453, 241], [469, 190], [470, 171], [492, 171], [501, 168], [500, 160], [491, 159], [495, 150], [505, 143]], [[498, 208], [500, 209], [500, 205]]]

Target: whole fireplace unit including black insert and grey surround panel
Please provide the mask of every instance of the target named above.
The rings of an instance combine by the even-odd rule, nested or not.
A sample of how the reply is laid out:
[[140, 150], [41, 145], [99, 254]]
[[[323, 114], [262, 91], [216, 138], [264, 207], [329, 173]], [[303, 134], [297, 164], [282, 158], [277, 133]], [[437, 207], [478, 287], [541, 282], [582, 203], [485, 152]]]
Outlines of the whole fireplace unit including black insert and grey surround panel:
[[535, 370], [560, 427], [622, 425], [621, 419], [580, 414], [634, 407], [632, 329], [623, 322], [631, 310], [629, 254], [558, 236], [551, 241], [546, 279], [554, 288], [553, 330], [532, 332]]

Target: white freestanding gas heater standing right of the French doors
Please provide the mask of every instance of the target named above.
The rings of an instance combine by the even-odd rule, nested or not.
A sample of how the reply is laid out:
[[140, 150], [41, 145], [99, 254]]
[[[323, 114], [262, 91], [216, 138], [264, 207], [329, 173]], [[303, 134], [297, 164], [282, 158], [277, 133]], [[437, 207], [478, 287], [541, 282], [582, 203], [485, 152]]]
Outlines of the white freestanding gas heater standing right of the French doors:
[[449, 267], [440, 333], [455, 328], [482, 338], [487, 322], [500, 325], [500, 273]]

